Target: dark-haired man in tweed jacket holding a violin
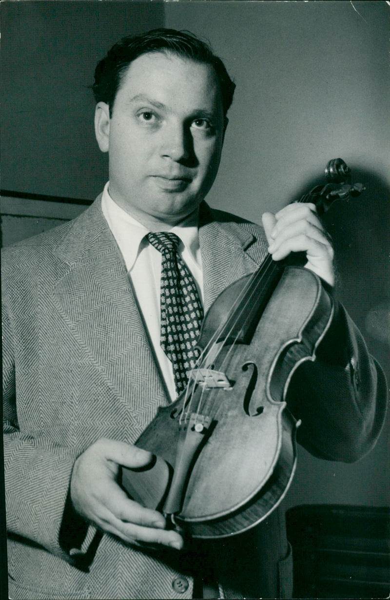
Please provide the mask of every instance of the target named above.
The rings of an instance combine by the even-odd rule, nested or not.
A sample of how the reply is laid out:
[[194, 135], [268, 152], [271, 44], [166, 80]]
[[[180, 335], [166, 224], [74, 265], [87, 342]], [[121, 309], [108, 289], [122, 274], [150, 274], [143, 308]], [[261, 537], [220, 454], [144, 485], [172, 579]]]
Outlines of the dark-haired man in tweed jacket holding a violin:
[[[259, 226], [203, 202], [233, 89], [220, 59], [190, 34], [155, 30], [116, 44], [94, 84], [109, 183], [79, 218], [4, 253], [12, 598], [290, 595], [278, 510], [239, 541], [184, 541], [118, 483], [121, 466], [150, 463], [133, 444], [158, 406], [175, 399], [181, 362], [194, 352], [192, 344], [176, 361], [176, 347], [162, 344], [161, 240], [178, 243], [175, 260], [199, 296], [198, 316], [200, 304], [207, 310], [268, 252], [280, 260], [304, 251], [307, 268], [334, 285], [332, 247], [314, 206], [263, 215], [267, 242]], [[337, 302], [317, 355], [290, 386], [301, 443], [324, 458], [356, 460], [379, 435], [385, 381]]]

